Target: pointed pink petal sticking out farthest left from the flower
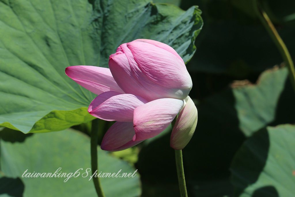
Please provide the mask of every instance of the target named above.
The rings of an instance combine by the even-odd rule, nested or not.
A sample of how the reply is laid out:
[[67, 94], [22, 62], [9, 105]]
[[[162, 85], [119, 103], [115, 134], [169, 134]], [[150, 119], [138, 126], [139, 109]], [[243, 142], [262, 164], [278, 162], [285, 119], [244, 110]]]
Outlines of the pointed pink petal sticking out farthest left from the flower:
[[117, 85], [108, 68], [97, 66], [69, 66], [65, 69], [65, 74], [82, 87], [97, 95], [107, 91], [124, 93]]

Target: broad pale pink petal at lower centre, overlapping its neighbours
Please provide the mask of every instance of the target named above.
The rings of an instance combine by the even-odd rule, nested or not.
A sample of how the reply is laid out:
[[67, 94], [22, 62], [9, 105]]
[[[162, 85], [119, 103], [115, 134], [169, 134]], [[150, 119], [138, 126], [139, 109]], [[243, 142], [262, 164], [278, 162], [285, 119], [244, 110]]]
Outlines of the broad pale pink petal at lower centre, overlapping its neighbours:
[[133, 140], [145, 140], [161, 133], [173, 121], [182, 106], [183, 100], [163, 98], [135, 108]]

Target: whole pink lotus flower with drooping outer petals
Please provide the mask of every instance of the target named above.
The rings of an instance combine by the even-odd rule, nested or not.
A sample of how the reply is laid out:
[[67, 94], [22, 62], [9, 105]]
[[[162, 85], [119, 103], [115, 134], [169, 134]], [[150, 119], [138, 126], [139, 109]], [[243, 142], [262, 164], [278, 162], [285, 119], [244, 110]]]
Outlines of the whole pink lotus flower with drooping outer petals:
[[88, 112], [117, 121], [106, 132], [101, 149], [119, 151], [161, 133], [180, 112], [171, 134], [171, 147], [183, 149], [197, 123], [197, 110], [188, 96], [191, 77], [182, 58], [155, 40], [124, 43], [109, 57], [109, 69], [69, 66], [65, 73], [98, 96]]

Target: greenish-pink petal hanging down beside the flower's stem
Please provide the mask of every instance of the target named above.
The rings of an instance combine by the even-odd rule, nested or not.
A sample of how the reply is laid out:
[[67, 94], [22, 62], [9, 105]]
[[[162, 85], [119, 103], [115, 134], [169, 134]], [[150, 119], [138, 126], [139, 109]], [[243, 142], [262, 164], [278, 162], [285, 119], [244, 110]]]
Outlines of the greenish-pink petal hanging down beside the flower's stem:
[[191, 137], [194, 135], [197, 121], [197, 108], [188, 96], [186, 105], [180, 112], [171, 133], [170, 146], [173, 149], [183, 149], [189, 143]]

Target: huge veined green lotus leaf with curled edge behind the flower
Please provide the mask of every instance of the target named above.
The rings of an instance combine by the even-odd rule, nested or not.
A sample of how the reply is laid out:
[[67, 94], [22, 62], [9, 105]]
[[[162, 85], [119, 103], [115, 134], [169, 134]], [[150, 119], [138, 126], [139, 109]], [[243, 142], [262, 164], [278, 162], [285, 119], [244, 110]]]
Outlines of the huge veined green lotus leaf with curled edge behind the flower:
[[59, 131], [93, 119], [95, 97], [65, 67], [108, 66], [121, 43], [137, 38], [171, 45], [189, 61], [201, 11], [139, 0], [0, 0], [0, 126]]

